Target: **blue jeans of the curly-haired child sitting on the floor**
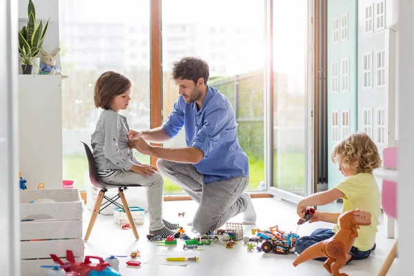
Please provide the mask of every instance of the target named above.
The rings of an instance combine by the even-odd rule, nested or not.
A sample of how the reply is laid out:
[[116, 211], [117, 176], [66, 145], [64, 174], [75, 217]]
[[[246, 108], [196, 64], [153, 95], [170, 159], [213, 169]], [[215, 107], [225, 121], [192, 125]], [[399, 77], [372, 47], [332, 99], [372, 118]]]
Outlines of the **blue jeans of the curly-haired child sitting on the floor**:
[[[335, 235], [335, 233], [332, 232], [332, 229], [327, 228], [319, 228], [313, 231], [313, 233], [309, 236], [299, 237], [296, 241], [295, 251], [300, 254], [306, 250], [306, 248], [313, 246], [313, 244], [317, 244], [318, 242], [322, 242], [325, 239], [329, 239]], [[348, 261], [351, 262], [353, 259], [366, 259], [371, 254], [371, 251], [375, 250], [376, 245], [374, 244], [373, 248], [366, 251], [360, 251], [356, 247], [352, 247], [351, 251], [349, 251], [349, 254], [351, 254], [353, 257]], [[317, 258], [321, 261], [326, 261], [326, 257], [320, 257]]]

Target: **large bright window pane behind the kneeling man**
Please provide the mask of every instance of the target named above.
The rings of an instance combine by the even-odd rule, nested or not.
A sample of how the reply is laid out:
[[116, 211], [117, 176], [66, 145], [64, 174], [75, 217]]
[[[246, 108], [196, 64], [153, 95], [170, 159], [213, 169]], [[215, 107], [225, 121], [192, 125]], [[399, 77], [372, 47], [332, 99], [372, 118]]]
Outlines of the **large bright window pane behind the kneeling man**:
[[[164, 121], [178, 97], [172, 62], [201, 57], [210, 67], [208, 85], [233, 105], [239, 143], [249, 157], [248, 190], [257, 190], [264, 181], [264, 1], [163, 1], [162, 11]], [[184, 130], [164, 146], [186, 147]], [[181, 193], [165, 180], [167, 193]]]

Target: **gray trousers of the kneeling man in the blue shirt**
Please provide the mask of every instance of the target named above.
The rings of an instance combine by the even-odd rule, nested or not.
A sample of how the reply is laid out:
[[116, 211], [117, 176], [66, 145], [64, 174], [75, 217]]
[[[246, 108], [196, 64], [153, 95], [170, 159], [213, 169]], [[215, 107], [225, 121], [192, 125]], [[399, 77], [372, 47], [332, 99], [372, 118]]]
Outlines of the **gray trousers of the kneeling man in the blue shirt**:
[[248, 186], [248, 175], [205, 184], [204, 175], [191, 164], [158, 159], [157, 168], [161, 175], [180, 186], [199, 204], [193, 219], [193, 227], [198, 233], [217, 230], [246, 209], [248, 199], [242, 193]]

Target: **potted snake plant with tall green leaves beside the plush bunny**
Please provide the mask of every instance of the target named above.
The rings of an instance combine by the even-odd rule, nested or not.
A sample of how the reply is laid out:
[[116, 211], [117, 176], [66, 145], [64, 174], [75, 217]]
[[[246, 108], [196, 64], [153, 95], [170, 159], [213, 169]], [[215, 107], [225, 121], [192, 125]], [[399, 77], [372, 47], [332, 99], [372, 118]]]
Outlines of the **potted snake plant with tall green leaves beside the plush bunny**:
[[[36, 10], [32, 0], [29, 0], [28, 3], [28, 25], [23, 26], [19, 30], [19, 57], [24, 59], [25, 62], [30, 61], [31, 63], [23, 63], [26, 65], [25, 68], [28, 68], [29, 65], [36, 64], [36, 67], [39, 68], [39, 52], [43, 44], [43, 39], [46, 36], [46, 32], [49, 26], [49, 20], [46, 22], [46, 25], [43, 26], [43, 22], [40, 21], [39, 25], [36, 23]], [[24, 52], [23, 52], [24, 50]], [[27, 69], [28, 70], [28, 69]], [[31, 71], [30, 73], [31, 74]]]

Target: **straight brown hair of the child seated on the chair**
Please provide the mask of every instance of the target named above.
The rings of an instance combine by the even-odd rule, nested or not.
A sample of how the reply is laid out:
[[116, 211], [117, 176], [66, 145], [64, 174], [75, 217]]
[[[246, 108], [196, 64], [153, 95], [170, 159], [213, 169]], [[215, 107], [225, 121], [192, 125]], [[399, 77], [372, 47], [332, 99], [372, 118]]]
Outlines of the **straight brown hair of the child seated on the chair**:
[[124, 94], [131, 88], [128, 77], [113, 71], [104, 72], [95, 82], [93, 97], [96, 108], [111, 109], [115, 96]]

